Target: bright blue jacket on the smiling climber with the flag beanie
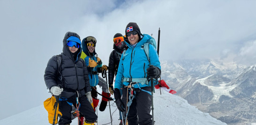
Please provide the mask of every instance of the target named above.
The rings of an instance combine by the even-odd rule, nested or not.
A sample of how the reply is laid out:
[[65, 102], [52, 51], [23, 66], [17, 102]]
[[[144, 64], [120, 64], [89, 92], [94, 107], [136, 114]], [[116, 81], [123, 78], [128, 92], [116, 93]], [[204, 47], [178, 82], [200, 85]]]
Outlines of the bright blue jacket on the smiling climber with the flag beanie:
[[[124, 86], [127, 86], [128, 82], [122, 83], [122, 78], [147, 78], [147, 68], [149, 67], [150, 63], [146, 56], [146, 53], [144, 52], [144, 49], [142, 45], [146, 43], [151, 37], [147, 34], [143, 34], [143, 38], [136, 44], [136, 46], [133, 48], [131, 44], [128, 44], [126, 41], [126, 44], [128, 46], [128, 49], [124, 53], [122, 53], [116, 79], [115, 79], [115, 87], [120, 89], [122, 87], [122, 84]], [[157, 50], [153, 47], [153, 45], [149, 44], [149, 57], [151, 60], [151, 65], [158, 67], [161, 69], [160, 62], [158, 59]], [[151, 84], [141, 84], [138, 83], [139, 87], [147, 87], [151, 86]], [[134, 88], [139, 88], [138, 85], [134, 85]]]

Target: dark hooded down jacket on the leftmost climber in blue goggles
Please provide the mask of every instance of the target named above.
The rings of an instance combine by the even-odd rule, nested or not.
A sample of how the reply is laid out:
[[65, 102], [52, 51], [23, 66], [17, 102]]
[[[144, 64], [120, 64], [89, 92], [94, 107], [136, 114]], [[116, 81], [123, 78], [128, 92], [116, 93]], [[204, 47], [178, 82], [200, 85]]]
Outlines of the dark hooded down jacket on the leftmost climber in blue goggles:
[[60, 65], [62, 81], [60, 81], [61, 76], [58, 74], [56, 55], [49, 59], [44, 75], [47, 88], [51, 90], [53, 86], [60, 86], [64, 89], [61, 96], [65, 98], [74, 96], [75, 91], [79, 92], [79, 96], [83, 96], [90, 91], [87, 66], [85, 65], [84, 60], [80, 58], [82, 49], [81, 47], [78, 49], [79, 53], [75, 60], [67, 45], [67, 39], [70, 36], [78, 37], [80, 39], [74, 32], [67, 32], [63, 39], [63, 52], [61, 53], [62, 61]]

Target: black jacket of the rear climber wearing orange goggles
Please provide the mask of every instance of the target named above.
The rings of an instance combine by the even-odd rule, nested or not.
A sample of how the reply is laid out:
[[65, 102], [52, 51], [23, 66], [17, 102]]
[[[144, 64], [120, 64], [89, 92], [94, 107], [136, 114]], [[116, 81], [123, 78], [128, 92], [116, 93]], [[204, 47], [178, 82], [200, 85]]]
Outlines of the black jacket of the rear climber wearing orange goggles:
[[123, 50], [127, 49], [124, 47], [124, 49], [119, 50], [115, 44], [113, 45], [113, 51], [110, 53], [109, 61], [108, 61], [108, 84], [113, 84], [114, 76], [117, 74], [117, 69], [119, 66], [121, 54]]

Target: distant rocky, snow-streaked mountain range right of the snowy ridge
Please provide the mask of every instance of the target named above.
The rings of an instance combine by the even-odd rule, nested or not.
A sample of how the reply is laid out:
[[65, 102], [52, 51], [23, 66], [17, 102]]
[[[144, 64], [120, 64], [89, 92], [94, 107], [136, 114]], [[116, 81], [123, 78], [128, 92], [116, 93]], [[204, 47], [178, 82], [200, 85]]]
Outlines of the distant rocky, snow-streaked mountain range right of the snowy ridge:
[[178, 96], [228, 125], [256, 123], [256, 65], [219, 60], [161, 62], [161, 79]]

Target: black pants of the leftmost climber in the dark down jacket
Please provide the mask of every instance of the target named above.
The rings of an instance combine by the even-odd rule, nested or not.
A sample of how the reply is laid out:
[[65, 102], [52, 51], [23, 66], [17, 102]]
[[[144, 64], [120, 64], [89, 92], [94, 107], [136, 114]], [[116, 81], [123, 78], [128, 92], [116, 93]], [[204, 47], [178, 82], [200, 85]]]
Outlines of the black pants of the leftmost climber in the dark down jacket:
[[[82, 96], [78, 98], [80, 103], [79, 111], [84, 115], [84, 118], [87, 122], [96, 122], [98, 116], [95, 114], [90, 102], [87, 100], [86, 96]], [[59, 110], [62, 113], [62, 117], [60, 118], [58, 124], [59, 125], [67, 125], [70, 124], [71, 121], [71, 110], [72, 105], [68, 103], [76, 104], [76, 97], [72, 96], [68, 98], [67, 101], [59, 101]]]

